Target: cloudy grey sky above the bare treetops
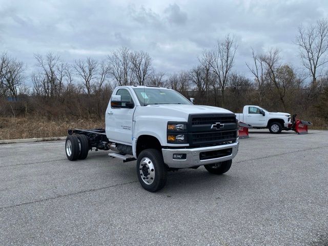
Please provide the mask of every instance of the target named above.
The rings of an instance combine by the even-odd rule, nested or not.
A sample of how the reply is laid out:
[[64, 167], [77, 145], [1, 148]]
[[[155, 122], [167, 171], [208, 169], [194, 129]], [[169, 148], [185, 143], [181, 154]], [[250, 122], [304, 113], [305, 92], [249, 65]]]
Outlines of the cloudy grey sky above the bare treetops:
[[157, 71], [173, 73], [195, 66], [203, 49], [230, 33], [238, 42], [234, 70], [250, 76], [251, 47], [279, 48], [286, 63], [300, 67], [292, 43], [298, 26], [327, 15], [327, 0], [0, 0], [0, 52], [31, 69], [34, 53], [72, 62], [127, 46], [150, 53]]

